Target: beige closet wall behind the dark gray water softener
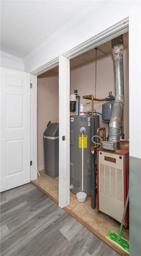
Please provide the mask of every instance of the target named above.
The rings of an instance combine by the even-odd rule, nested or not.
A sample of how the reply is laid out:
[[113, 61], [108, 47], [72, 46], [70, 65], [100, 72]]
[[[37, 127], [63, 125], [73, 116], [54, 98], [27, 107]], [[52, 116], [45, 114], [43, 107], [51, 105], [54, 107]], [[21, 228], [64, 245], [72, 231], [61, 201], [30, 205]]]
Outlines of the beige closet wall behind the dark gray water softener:
[[48, 71], [38, 76], [37, 86], [37, 165], [44, 168], [43, 133], [48, 122], [59, 122], [59, 76]]

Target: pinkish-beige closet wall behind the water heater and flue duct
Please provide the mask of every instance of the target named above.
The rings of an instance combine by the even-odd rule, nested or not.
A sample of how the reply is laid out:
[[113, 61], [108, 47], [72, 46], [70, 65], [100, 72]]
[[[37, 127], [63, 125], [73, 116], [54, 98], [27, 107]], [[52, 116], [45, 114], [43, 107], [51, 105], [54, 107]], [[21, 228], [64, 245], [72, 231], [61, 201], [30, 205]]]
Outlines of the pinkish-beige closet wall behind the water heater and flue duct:
[[[124, 133], [125, 138], [129, 139], [129, 61], [128, 61], [128, 49], [124, 49]], [[84, 105], [84, 112], [91, 109], [91, 104], [86, 104], [83, 95], [93, 94], [95, 96], [95, 61], [89, 62], [78, 68], [75, 68], [70, 73], [70, 93], [74, 90], [78, 90], [80, 95], [80, 104]], [[109, 91], [112, 91], [112, 95], [115, 95], [114, 89], [114, 62], [112, 55], [106, 55], [103, 58], [97, 60], [97, 85], [96, 85], [96, 98], [105, 98], [109, 95]], [[94, 108], [97, 112], [102, 113], [102, 104], [98, 101], [94, 102]], [[76, 104], [76, 111], [78, 111], [78, 100]], [[74, 114], [74, 112], [71, 112]], [[100, 115], [100, 126], [105, 126], [106, 136], [108, 135], [107, 122], [102, 121]]]

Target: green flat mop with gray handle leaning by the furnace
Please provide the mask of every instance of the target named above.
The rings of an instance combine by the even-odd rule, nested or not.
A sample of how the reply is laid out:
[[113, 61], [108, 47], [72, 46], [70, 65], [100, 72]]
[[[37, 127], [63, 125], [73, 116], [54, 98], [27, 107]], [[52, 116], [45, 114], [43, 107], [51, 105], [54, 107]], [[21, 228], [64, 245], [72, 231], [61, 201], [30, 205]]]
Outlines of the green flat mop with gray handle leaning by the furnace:
[[124, 207], [124, 212], [123, 212], [123, 216], [122, 216], [122, 221], [121, 221], [121, 225], [120, 225], [119, 234], [116, 234], [112, 230], [110, 230], [108, 232], [106, 238], [108, 238], [110, 241], [112, 241], [114, 244], [116, 244], [122, 250], [124, 250], [125, 252], [127, 252], [129, 254], [129, 242], [121, 237], [128, 202], [129, 202], [129, 190], [128, 190], [128, 195], [127, 195], [127, 198], [126, 198], [126, 203], [125, 203], [125, 207]]

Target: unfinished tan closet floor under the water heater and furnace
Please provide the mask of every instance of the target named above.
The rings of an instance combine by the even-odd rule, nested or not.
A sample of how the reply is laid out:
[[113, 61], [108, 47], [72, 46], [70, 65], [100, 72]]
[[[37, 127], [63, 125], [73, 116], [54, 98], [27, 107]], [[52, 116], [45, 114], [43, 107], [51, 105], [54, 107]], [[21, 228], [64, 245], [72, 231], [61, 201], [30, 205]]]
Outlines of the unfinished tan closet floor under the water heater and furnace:
[[[42, 190], [47, 196], [58, 204], [59, 177], [53, 179], [44, 174], [44, 170], [40, 171], [39, 173], [40, 176], [38, 176], [38, 179], [32, 181], [32, 184]], [[70, 191], [70, 204], [67, 207], [64, 207], [64, 210], [71, 214], [75, 219], [81, 222], [121, 255], [128, 255], [106, 238], [106, 235], [110, 229], [118, 233], [120, 224], [106, 214], [101, 212], [98, 213], [97, 208], [92, 209], [91, 197], [87, 197], [85, 202], [79, 203], [76, 199], [76, 195]], [[122, 237], [129, 241], [128, 228], [123, 228]]]

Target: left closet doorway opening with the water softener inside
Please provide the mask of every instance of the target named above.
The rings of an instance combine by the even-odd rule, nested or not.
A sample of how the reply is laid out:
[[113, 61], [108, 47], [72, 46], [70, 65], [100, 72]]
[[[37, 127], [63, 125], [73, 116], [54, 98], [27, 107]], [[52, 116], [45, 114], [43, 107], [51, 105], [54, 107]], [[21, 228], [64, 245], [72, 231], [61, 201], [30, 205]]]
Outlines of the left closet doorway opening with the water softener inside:
[[32, 183], [59, 200], [59, 67], [37, 76], [37, 169]]

